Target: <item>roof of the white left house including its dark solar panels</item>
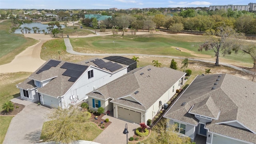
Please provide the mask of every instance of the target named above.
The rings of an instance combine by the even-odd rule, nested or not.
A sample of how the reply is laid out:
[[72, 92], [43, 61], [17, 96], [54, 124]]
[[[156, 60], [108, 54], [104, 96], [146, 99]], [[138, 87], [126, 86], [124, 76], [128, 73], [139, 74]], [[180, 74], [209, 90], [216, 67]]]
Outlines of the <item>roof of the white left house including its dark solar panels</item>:
[[[47, 67], [46, 65], [56, 60], [48, 60], [46, 61], [38, 70], [36, 70], [33, 74], [29, 76], [24, 82], [17, 84], [18, 88], [22, 88], [24, 90], [36, 88], [34, 85], [34, 80], [37, 81], [45, 81], [50, 80], [45, 86], [38, 88], [37, 92], [42, 94], [47, 94], [49, 96], [63, 96], [76, 82], [76, 80], [86, 71], [89, 66], [97, 67], [101, 70], [114, 74], [123, 68], [128, 66], [124, 64], [119, 64], [122, 68], [119, 68], [113, 72], [104, 68], [98, 67], [96, 64], [91, 62], [92, 60], [104, 60], [104, 62], [110, 62], [109, 60], [100, 59], [100, 58], [91, 58], [88, 60], [84, 60], [79, 63], [72, 62], [64, 62], [59, 61], [56, 66]], [[85, 63], [88, 62], [88, 63]], [[48, 69], [48, 70], [47, 70]]]

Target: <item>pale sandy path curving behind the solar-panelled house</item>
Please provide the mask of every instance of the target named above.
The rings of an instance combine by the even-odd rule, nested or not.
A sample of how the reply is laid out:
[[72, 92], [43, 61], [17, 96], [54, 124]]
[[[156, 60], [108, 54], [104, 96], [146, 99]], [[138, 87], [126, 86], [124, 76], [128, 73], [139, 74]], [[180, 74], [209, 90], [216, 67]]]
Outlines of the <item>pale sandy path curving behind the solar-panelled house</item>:
[[42, 64], [44, 64], [45, 61], [40, 58], [40, 52], [42, 44], [48, 40], [51, 40], [51, 36], [44, 34], [24, 34], [24, 36], [34, 38], [39, 40], [39, 42], [26, 48], [26, 50], [18, 54], [14, 60], [12, 60], [12, 62], [0, 65], [0, 73], [34, 72]]

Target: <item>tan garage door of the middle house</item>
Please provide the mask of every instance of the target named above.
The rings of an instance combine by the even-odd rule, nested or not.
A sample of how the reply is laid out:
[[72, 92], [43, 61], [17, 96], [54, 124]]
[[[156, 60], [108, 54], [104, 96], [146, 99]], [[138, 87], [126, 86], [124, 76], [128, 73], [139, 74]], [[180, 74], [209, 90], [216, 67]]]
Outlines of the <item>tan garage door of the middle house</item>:
[[134, 122], [136, 124], [140, 124], [141, 112], [136, 112], [134, 110], [129, 110], [127, 108], [118, 106], [118, 118], [130, 121], [130, 122]]

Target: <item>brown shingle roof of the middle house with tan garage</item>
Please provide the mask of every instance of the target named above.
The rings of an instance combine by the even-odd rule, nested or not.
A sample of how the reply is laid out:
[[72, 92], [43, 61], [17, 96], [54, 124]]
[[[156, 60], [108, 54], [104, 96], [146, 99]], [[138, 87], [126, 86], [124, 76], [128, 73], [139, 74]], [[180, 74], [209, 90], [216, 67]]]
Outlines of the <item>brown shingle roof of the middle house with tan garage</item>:
[[102, 100], [113, 98], [114, 103], [147, 110], [185, 74], [171, 68], [149, 65], [136, 68], [86, 95]]

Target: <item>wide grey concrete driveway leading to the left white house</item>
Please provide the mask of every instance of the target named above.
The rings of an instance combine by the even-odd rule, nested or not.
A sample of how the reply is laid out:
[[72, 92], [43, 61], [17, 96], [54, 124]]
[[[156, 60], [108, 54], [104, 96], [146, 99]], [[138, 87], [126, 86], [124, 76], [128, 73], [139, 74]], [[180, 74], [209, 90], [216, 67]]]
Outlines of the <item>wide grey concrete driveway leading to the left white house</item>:
[[3, 144], [34, 144], [40, 140], [46, 114], [53, 109], [14, 98], [11, 100], [25, 105], [25, 108], [10, 123]]

